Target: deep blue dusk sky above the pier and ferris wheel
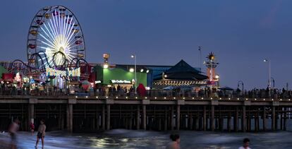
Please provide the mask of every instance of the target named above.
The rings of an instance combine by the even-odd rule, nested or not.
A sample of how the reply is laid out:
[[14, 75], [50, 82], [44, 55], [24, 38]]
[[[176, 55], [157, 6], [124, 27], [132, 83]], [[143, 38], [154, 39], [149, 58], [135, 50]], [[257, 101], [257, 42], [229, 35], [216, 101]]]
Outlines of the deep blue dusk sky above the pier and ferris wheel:
[[[291, 0], [92, 0], [1, 1], [0, 61], [27, 61], [28, 28], [44, 6], [62, 5], [78, 18], [86, 59], [111, 64], [174, 65], [184, 59], [199, 67], [214, 52], [221, 85], [266, 88], [271, 59], [276, 88], [291, 81]], [[206, 71], [203, 67], [203, 71]]]

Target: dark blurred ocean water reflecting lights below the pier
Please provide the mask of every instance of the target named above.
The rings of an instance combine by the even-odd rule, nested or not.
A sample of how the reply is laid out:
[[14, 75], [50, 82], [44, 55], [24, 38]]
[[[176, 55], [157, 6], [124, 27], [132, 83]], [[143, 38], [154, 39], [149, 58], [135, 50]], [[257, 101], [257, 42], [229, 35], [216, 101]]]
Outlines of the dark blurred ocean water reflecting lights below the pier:
[[[44, 148], [165, 148], [171, 132], [114, 129], [104, 133], [48, 132]], [[250, 138], [251, 148], [292, 148], [292, 131], [265, 133], [213, 133], [179, 131], [181, 148], [238, 148]], [[7, 133], [0, 135], [0, 148], [8, 147]], [[18, 133], [18, 148], [35, 148], [36, 134]], [[39, 143], [41, 148], [41, 143]]]

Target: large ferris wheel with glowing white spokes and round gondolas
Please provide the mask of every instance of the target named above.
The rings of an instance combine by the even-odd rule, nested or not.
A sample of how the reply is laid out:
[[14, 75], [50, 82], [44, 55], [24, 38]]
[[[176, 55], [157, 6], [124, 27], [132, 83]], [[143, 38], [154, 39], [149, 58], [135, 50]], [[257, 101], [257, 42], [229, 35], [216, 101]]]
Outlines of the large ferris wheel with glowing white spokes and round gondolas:
[[36, 71], [65, 69], [85, 59], [85, 41], [77, 18], [64, 6], [37, 12], [28, 31], [28, 65]]

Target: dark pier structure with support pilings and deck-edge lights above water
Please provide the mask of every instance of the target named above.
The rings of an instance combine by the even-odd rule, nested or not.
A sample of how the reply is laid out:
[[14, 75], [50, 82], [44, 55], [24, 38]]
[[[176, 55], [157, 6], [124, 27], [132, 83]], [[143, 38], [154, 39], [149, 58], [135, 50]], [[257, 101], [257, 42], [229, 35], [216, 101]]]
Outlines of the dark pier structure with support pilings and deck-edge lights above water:
[[290, 99], [0, 96], [0, 130], [45, 119], [48, 131], [286, 131], [291, 108]]

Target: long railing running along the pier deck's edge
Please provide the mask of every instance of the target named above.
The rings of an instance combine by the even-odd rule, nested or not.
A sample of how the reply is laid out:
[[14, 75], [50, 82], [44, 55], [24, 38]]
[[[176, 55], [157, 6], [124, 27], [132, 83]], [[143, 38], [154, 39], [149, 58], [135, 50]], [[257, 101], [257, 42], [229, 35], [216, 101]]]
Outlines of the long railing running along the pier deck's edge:
[[78, 90], [70, 92], [69, 90], [0, 90], [0, 95], [22, 95], [22, 96], [77, 96], [77, 97], [166, 97], [166, 98], [190, 98], [190, 99], [201, 99], [201, 98], [224, 98], [224, 99], [292, 99], [292, 92], [266, 92], [264, 90], [255, 92], [222, 92], [216, 91], [213, 93], [199, 90], [199, 91], [175, 91], [175, 90], [146, 90], [145, 93], [135, 93], [132, 91], [116, 90], [116, 91], [99, 91], [95, 90], [92, 92], [86, 92], [85, 90]]

